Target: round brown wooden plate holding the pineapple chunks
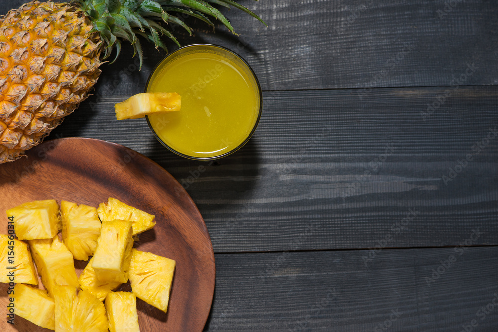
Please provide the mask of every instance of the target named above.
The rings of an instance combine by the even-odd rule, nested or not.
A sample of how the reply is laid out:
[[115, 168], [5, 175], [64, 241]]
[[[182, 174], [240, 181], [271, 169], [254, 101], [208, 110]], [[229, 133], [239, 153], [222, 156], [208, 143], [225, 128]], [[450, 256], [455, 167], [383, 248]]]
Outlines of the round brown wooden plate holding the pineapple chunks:
[[[213, 300], [215, 261], [204, 220], [183, 187], [147, 157], [105, 141], [56, 139], [27, 155], [0, 165], [0, 233], [7, 234], [5, 210], [32, 200], [97, 207], [115, 197], [151, 213], [157, 224], [134, 247], [174, 259], [176, 271], [167, 313], [137, 300], [140, 331], [202, 331]], [[85, 265], [75, 261], [78, 275]], [[0, 331], [51, 331], [18, 316], [15, 325], [7, 323], [8, 285], [0, 286]], [[131, 291], [129, 283], [120, 290]]]

